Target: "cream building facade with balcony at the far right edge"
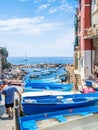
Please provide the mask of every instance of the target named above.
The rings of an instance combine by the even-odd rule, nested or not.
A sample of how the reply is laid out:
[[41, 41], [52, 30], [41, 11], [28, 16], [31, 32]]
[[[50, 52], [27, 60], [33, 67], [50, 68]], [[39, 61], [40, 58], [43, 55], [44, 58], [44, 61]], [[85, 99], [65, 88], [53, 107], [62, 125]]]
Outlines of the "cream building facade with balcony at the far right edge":
[[[92, 0], [91, 6], [91, 33], [87, 39], [92, 39], [95, 48], [94, 63], [98, 64], [98, 0]], [[89, 32], [88, 30], [88, 32]]]

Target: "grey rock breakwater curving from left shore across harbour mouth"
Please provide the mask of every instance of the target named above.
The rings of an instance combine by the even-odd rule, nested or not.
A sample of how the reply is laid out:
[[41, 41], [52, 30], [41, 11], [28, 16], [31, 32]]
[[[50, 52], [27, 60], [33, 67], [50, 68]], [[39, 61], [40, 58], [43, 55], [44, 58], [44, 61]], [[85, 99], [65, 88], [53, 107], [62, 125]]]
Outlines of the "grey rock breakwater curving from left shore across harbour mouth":
[[11, 65], [11, 67], [9, 69], [3, 70], [2, 78], [5, 81], [8, 81], [8, 82], [11, 81], [13, 84], [16, 84], [16, 83], [20, 84], [20, 83], [22, 83], [23, 77], [27, 74], [27, 71], [25, 71], [24, 68], [33, 68], [33, 69], [45, 68], [46, 70], [48, 70], [48, 69], [51, 70], [51, 68], [52, 68], [53, 70], [57, 71], [60, 68], [65, 69], [65, 65], [62, 65], [62, 64], [44, 64], [44, 63], [28, 64], [28, 65], [25, 65], [25, 64]]

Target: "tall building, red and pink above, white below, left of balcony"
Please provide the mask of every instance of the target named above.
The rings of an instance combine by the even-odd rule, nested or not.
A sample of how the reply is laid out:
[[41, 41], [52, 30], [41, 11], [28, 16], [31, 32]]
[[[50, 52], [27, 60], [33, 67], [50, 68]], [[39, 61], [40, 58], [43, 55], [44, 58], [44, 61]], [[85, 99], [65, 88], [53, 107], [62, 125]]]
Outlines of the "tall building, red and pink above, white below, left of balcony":
[[94, 42], [86, 38], [91, 27], [92, 0], [77, 0], [78, 8], [75, 16], [75, 72], [81, 75], [81, 79], [93, 78], [94, 69]]

